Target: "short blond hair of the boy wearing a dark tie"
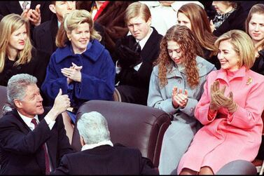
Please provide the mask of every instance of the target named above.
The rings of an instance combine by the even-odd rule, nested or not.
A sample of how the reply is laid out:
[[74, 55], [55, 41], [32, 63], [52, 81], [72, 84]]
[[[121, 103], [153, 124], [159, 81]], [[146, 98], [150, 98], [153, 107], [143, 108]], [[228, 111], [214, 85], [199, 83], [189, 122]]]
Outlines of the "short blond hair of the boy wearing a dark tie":
[[125, 10], [125, 23], [131, 19], [135, 18], [137, 16], [143, 17], [143, 19], [147, 22], [149, 18], [151, 18], [151, 11], [149, 10], [148, 6], [146, 4], [143, 4], [141, 2], [134, 2], [127, 6], [127, 9]]

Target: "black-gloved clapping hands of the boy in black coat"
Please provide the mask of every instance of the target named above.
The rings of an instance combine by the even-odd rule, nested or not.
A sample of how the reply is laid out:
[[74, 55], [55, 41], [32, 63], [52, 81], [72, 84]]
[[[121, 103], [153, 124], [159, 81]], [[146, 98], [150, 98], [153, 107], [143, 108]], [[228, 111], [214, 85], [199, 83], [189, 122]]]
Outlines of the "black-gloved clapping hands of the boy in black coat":
[[141, 62], [141, 55], [139, 53], [122, 44], [118, 46], [116, 52], [120, 67], [134, 67], [137, 63]]

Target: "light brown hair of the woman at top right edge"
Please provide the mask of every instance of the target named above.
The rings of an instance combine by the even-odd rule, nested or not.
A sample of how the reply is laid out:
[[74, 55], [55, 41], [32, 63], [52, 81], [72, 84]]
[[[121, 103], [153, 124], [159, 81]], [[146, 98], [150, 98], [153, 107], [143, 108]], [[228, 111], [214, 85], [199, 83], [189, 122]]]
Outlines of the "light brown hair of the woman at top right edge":
[[[245, 21], [245, 28], [246, 33], [249, 34], [249, 22], [253, 16], [253, 14], [258, 15], [264, 15], [264, 4], [255, 4], [251, 7], [249, 14], [247, 15], [246, 21]], [[264, 18], [263, 18], [264, 20]], [[262, 39], [258, 44], [255, 46], [255, 51], [258, 52], [258, 48], [263, 49], [264, 48], [264, 39]]]

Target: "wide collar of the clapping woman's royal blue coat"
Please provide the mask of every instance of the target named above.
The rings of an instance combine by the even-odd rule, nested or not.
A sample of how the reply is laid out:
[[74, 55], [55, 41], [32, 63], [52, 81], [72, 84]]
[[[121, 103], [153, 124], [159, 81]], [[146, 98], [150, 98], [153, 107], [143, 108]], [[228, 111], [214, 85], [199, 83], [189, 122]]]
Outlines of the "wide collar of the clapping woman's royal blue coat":
[[[102, 46], [97, 39], [93, 39], [88, 43], [87, 49], [84, 53], [81, 53], [81, 55], [84, 55], [95, 62], [103, 52], [104, 46]], [[55, 52], [55, 61], [56, 63], [59, 63], [67, 57], [72, 57], [74, 55], [76, 54], [74, 54], [74, 51], [72, 50], [71, 42], [67, 42], [65, 47], [57, 48]]]

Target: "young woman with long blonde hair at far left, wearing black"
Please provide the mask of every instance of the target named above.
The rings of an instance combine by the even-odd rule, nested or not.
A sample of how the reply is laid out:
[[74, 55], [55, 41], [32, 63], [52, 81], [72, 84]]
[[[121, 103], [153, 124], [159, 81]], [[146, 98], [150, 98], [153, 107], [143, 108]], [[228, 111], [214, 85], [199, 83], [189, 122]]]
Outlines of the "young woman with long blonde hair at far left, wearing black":
[[0, 36], [0, 85], [7, 86], [15, 74], [31, 74], [41, 86], [50, 55], [33, 48], [29, 22], [15, 13], [6, 15], [0, 22]]

